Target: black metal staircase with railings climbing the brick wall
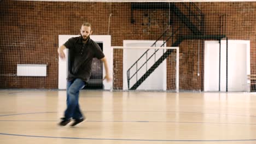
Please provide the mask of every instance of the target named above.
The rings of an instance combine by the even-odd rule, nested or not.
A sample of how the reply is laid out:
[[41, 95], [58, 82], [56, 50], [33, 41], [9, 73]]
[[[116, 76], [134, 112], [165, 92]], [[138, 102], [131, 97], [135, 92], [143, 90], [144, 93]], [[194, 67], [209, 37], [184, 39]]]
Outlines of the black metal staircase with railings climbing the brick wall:
[[[176, 5], [174, 3], [148, 3], [147, 5], [142, 4], [142, 3], [132, 3], [131, 5], [132, 10], [133, 9], [170, 9], [172, 11], [173, 14], [175, 14], [178, 19], [180, 21], [182, 21], [184, 23], [184, 25], [190, 29], [191, 31], [191, 35], [181, 35], [178, 33], [181, 32], [182, 26], [180, 26], [179, 28], [176, 29], [176, 31], [172, 32], [172, 34], [164, 41], [164, 44], [161, 45], [164, 46], [167, 41], [169, 41], [170, 39], [176, 39], [176, 41], [172, 41], [171, 46], [172, 47], [176, 47], [179, 46], [179, 44], [182, 43], [183, 40], [187, 40], [187, 39], [214, 39], [214, 40], [220, 40], [222, 38], [225, 38], [226, 36], [224, 35], [224, 31], [223, 31], [223, 22], [224, 19], [220, 19], [222, 20], [222, 23], [220, 23], [220, 33], [218, 35], [205, 35], [204, 31], [203, 31], [203, 22], [204, 22], [204, 16], [201, 12], [201, 10], [199, 8], [196, 7], [196, 5], [194, 3], [189, 3], [189, 5], [185, 4], [185, 3], [179, 3], [179, 5]], [[182, 7], [182, 10], [181, 10]], [[131, 22], [135, 22], [135, 20], [133, 20], [133, 17], [131, 17]], [[222, 27], [221, 27], [222, 26]], [[162, 39], [163, 37], [165, 37], [167, 35], [167, 33], [169, 32], [169, 29], [166, 29], [166, 31], [164, 33], [162, 33], [160, 35], [160, 37], [155, 41], [155, 43], [152, 45], [155, 46], [156, 42], [159, 41], [160, 39]], [[165, 38], [164, 38], [165, 39]], [[137, 61], [135, 63], [132, 64], [132, 66], [127, 70], [127, 82], [128, 82], [128, 88], [130, 90], [135, 90], [138, 88], [139, 85], [141, 85], [141, 83], [147, 79], [147, 77], [153, 73], [153, 71], [159, 67], [159, 65], [173, 52], [173, 50], [166, 50], [166, 52], [163, 53], [163, 55], [157, 60], [155, 61], [155, 63], [152, 65], [152, 67], [150, 67], [149, 69], [147, 69], [146, 73], [143, 74], [142, 77], [140, 77], [139, 79], [137, 78], [137, 74], [138, 71], [141, 70], [142, 67], [146, 66], [147, 67], [147, 62], [149, 61], [150, 58], [152, 58], [154, 55], [156, 55], [156, 52], [159, 51], [155, 50], [155, 52], [149, 56], [149, 58], [146, 59], [146, 62], [144, 62], [141, 67], [138, 67], [138, 62], [142, 61], [142, 57], [144, 55], [148, 55], [148, 51], [149, 49], [143, 53], [143, 55], [137, 59]], [[136, 72], [134, 74], [130, 73], [130, 70], [136, 67]], [[130, 76], [131, 75], [131, 76]], [[132, 78], [134, 78], [136, 76], [136, 82], [135, 84], [133, 84], [130, 88], [130, 80]]]

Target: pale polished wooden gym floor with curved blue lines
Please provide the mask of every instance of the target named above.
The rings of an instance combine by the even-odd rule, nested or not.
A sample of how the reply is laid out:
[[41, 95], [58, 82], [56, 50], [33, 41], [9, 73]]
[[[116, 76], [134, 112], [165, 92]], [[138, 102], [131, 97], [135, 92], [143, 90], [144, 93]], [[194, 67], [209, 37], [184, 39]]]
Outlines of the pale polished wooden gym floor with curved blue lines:
[[66, 91], [0, 90], [0, 143], [256, 143], [256, 93], [80, 92], [88, 121], [59, 127]]

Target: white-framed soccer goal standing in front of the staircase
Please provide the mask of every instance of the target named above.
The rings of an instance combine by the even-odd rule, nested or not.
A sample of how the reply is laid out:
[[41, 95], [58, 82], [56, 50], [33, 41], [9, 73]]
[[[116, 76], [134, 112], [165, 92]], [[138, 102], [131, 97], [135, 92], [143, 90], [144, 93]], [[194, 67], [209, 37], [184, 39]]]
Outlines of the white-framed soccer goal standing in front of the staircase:
[[179, 91], [179, 47], [113, 46], [113, 90]]

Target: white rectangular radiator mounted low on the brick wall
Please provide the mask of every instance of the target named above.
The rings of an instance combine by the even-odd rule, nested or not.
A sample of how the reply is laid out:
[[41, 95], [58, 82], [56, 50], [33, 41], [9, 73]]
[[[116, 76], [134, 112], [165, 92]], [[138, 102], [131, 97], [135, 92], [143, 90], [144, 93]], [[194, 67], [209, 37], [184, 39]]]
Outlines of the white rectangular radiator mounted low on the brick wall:
[[46, 64], [17, 64], [17, 76], [46, 76]]

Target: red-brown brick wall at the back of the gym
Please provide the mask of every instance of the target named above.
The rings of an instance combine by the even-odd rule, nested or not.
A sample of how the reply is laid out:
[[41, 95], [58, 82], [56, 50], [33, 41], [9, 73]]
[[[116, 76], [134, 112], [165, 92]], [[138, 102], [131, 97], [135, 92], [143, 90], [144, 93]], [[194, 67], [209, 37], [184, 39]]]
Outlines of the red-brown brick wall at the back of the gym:
[[[256, 73], [256, 2], [195, 3], [206, 17], [206, 34], [218, 34], [218, 15], [225, 14], [226, 35], [229, 39], [251, 40], [251, 73]], [[58, 35], [79, 34], [84, 21], [92, 24], [93, 34], [109, 34], [112, 46], [123, 40], [156, 40], [168, 23], [168, 10], [134, 10], [131, 23], [130, 3], [100, 2], [0, 2], [0, 88], [57, 88]], [[171, 15], [174, 27], [183, 25]], [[183, 33], [190, 33], [184, 27]], [[202, 88], [203, 62], [200, 57], [200, 76], [197, 76], [198, 40], [184, 40], [180, 47], [180, 88]], [[201, 41], [200, 41], [200, 44]], [[170, 42], [167, 46], [170, 46]], [[200, 55], [202, 54], [200, 50]], [[121, 53], [121, 52], [119, 52]], [[123, 87], [121, 54], [114, 57], [114, 87]], [[171, 58], [170, 58], [171, 59]], [[172, 60], [167, 60], [172, 63]], [[46, 77], [18, 77], [16, 64], [48, 64]], [[168, 63], [168, 62], [167, 62]], [[168, 77], [173, 64], [167, 66], [167, 87], [173, 87]], [[170, 74], [170, 75], [169, 75]]]

